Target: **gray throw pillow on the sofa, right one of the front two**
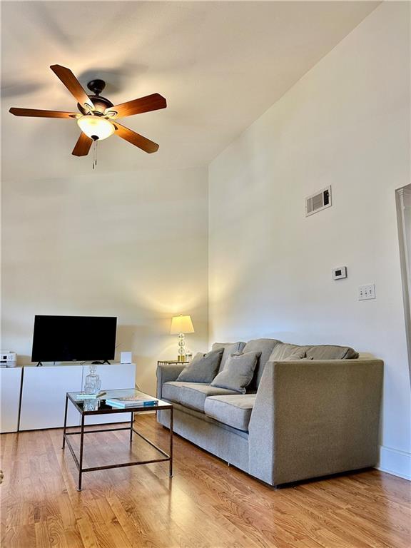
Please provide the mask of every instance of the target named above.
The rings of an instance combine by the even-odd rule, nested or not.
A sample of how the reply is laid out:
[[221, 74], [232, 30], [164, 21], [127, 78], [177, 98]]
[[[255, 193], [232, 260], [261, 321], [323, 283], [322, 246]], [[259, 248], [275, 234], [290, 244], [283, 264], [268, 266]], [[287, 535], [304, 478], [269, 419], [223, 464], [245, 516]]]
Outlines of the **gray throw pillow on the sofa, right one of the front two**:
[[261, 352], [245, 352], [244, 354], [233, 354], [225, 362], [223, 371], [220, 371], [211, 382], [211, 386], [227, 388], [245, 394], [251, 380], [253, 380], [255, 365]]

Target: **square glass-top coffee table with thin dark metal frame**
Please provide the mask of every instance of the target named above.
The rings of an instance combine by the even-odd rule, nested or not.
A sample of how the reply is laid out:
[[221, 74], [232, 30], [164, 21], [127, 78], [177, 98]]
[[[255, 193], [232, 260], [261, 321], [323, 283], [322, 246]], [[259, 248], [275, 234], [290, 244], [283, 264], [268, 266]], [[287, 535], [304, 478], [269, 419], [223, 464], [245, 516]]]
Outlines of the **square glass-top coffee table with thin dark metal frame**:
[[[109, 468], [121, 468], [125, 466], [135, 466], [135, 465], [149, 465], [152, 462], [165, 462], [168, 461], [169, 464], [169, 475], [170, 477], [173, 477], [173, 405], [168, 402], [163, 402], [162, 400], [157, 400], [156, 404], [153, 405], [145, 405], [144, 407], [127, 407], [126, 409], [117, 409], [116, 407], [111, 407], [111, 405], [106, 404], [106, 399], [112, 397], [126, 397], [131, 395], [143, 395], [148, 396], [147, 394], [144, 394], [143, 392], [140, 392], [138, 390], [134, 390], [133, 388], [130, 389], [124, 389], [124, 390], [106, 390], [101, 397], [98, 397], [98, 409], [93, 411], [88, 411], [83, 409], [83, 400], [78, 400], [77, 396], [81, 395], [81, 392], [67, 392], [66, 393], [66, 410], [64, 412], [64, 430], [63, 430], [63, 449], [67, 443], [67, 447], [71, 452], [71, 455], [73, 456], [74, 462], [76, 463], [76, 466], [78, 468], [78, 487], [77, 490], [81, 491], [81, 479], [83, 472], [93, 472], [96, 470], [108, 470]], [[150, 397], [150, 396], [148, 396]], [[73, 406], [76, 408], [76, 410], [81, 415], [81, 425], [80, 425], [80, 432], [67, 432], [67, 407], [68, 402], [71, 402]], [[144, 437], [140, 432], [134, 429], [133, 427], [133, 420], [134, 420], [134, 413], [139, 413], [143, 411], [163, 411], [163, 410], [170, 410], [170, 442], [169, 442], [169, 453], [166, 453], [163, 451], [160, 447], [158, 447], [156, 444], [148, 440], [146, 437]], [[111, 415], [112, 413], [124, 413], [128, 412], [131, 414], [130, 417], [130, 424], [126, 427], [116, 427], [116, 428], [100, 428], [93, 430], [88, 430], [89, 426], [86, 426], [87, 430], [85, 430], [84, 425], [84, 419], [90, 415]], [[90, 425], [93, 426], [93, 425]], [[130, 443], [133, 441], [133, 432], [143, 438], [145, 442], [150, 444], [152, 447], [154, 447], [158, 452], [163, 455], [162, 458], [158, 459], [151, 459], [151, 460], [139, 460], [139, 461], [133, 461], [133, 462], [124, 462], [121, 465], [106, 465], [106, 466], [95, 466], [95, 467], [88, 467], [83, 468], [83, 445], [84, 445], [84, 435], [85, 434], [94, 434], [96, 432], [113, 432], [115, 430], [130, 430]], [[69, 436], [73, 435], [79, 435], [80, 436], [80, 453], [77, 457], [76, 452], [73, 449], [73, 446], [71, 445], [70, 440], [68, 439]]]

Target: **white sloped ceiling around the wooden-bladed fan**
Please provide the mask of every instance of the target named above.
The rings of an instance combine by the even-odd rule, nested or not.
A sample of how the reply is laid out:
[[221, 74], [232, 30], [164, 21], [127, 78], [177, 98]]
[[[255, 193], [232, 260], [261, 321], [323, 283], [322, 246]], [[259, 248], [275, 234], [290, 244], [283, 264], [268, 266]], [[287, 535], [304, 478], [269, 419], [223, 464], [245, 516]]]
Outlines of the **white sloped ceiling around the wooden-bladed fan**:
[[107, 82], [114, 104], [158, 92], [166, 110], [122, 123], [160, 144], [148, 155], [111, 137], [100, 171], [207, 165], [378, 2], [3, 1], [4, 178], [91, 173], [71, 151], [75, 121], [16, 118], [11, 106], [76, 110], [51, 72]]

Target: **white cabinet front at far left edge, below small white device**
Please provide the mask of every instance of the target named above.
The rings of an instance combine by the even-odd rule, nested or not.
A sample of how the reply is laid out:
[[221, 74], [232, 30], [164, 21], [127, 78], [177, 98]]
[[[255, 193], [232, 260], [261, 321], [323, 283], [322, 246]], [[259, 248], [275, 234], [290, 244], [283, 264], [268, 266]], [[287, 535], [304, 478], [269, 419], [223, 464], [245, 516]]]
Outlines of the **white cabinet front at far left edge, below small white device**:
[[21, 367], [0, 367], [0, 433], [16, 432], [19, 423]]

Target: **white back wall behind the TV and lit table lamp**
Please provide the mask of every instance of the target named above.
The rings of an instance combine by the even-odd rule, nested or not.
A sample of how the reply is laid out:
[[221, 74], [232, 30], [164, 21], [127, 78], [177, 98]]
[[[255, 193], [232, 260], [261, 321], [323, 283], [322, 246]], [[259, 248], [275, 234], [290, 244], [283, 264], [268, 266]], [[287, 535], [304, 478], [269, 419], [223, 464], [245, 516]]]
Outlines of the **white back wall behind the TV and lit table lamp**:
[[205, 168], [3, 181], [1, 347], [29, 362], [35, 314], [116, 315], [154, 394], [173, 314], [207, 344], [207, 186]]

